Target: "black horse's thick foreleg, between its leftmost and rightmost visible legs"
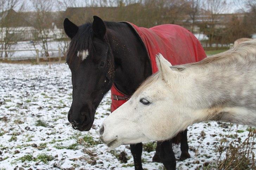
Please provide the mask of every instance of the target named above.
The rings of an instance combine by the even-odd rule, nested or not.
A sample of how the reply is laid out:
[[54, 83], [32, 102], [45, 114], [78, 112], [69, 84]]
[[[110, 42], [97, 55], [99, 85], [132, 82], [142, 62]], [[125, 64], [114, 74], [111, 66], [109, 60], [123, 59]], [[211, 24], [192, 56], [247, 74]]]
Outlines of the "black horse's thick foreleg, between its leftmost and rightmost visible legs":
[[164, 164], [167, 170], [176, 169], [175, 155], [172, 150], [172, 140], [157, 142], [156, 152], [158, 152], [160, 161]]

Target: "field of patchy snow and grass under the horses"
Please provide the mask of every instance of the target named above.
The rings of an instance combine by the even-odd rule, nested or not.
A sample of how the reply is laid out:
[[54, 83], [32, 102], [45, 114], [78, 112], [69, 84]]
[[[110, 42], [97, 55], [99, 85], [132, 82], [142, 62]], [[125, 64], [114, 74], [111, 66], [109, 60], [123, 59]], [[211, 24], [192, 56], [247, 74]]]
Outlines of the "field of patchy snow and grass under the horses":
[[[30, 65], [0, 63], [0, 169], [134, 169], [129, 145], [110, 150], [102, 144], [98, 128], [110, 114], [110, 93], [96, 110], [89, 132], [72, 129], [67, 114], [72, 102], [71, 73], [66, 64]], [[247, 135], [238, 126], [238, 138]], [[214, 162], [223, 135], [228, 142], [236, 125], [217, 122], [188, 128], [191, 158], [179, 161], [179, 145], [173, 145], [177, 169], [196, 169]], [[154, 143], [143, 148], [145, 169], [164, 169], [152, 163]], [[225, 152], [224, 152], [225, 154]]]

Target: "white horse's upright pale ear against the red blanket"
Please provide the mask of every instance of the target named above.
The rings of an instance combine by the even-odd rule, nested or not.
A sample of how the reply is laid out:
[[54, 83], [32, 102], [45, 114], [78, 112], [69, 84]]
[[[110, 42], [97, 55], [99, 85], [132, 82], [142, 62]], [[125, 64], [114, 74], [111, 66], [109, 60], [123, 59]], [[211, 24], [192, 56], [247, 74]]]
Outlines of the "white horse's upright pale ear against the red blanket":
[[172, 77], [175, 77], [175, 75], [177, 74], [174, 70], [170, 68], [172, 64], [169, 61], [167, 61], [164, 58], [164, 56], [162, 56], [162, 54], [160, 53], [156, 54], [155, 60], [156, 60], [156, 65], [158, 67], [159, 72], [163, 76], [164, 80], [167, 83], [169, 83], [170, 79]]

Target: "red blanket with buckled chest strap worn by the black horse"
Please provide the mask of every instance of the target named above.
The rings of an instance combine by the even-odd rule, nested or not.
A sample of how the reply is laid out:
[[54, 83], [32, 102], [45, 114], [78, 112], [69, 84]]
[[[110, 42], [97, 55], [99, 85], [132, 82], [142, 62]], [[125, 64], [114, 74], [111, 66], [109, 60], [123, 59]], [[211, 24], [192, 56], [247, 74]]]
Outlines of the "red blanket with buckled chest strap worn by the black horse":
[[[206, 57], [198, 39], [187, 29], [173, 24], [159, 25], [152, 28], [137, 27], [128, 23], [137, 33], [151, 60], [152, 74], [158, 71], [155, 55], [161, 53], [171, 64], [198, 62]], [[121, 99], [121, 100], [120, 100]], [[111, 87], [111, 112], [129, 99], [115, 85]]]

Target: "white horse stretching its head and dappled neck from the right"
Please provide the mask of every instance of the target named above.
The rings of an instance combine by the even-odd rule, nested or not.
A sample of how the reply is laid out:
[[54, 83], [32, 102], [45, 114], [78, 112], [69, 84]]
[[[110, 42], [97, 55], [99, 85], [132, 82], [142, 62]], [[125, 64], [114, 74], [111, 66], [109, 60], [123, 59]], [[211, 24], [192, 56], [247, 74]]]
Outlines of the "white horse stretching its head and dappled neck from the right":
[[159, 72], [102, 123], [110, 148], [161, 141], [189, 125], [224, 121], [256, 126], [256, 41], [180, 66], [159, 54]]

